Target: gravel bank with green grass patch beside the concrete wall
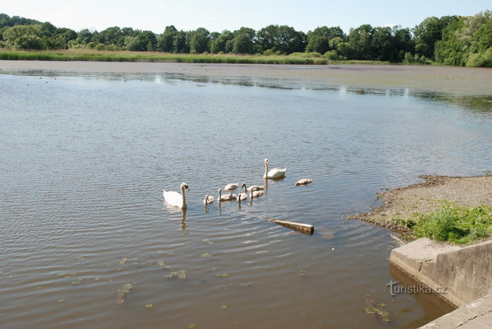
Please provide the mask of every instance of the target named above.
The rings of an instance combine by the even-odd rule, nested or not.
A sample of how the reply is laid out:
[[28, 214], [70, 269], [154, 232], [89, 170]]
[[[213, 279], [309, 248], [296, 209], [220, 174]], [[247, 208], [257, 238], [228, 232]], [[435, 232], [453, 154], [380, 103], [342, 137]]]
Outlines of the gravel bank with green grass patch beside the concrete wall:
[[472, 244], [492, 235], [492, 176], [420, 176], [423, 183], [376, 193], [381, 206], [348, 216], [412, 238]]

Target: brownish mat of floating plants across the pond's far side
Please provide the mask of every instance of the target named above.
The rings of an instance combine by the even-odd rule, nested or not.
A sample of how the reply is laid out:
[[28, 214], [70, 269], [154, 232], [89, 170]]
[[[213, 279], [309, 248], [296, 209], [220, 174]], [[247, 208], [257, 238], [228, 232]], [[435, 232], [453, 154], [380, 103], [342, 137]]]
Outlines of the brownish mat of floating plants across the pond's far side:
[[412, 89], [492, 95], [492, 68], [431, 65], [270, 65], [151, 62], [0, 60], [2, 73], [30, 70], [114, 73], [181, 73], [205, 78], [295, 80], [319, 86]]

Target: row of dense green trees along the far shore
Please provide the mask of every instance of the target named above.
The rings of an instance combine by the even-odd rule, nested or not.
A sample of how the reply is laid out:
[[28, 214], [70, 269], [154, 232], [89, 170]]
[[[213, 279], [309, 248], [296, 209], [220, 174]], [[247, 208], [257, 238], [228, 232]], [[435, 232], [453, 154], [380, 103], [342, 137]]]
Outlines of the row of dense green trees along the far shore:
[[78, 32], [19, 16], [0, 14], [0, 48], [101, 51], [156, 51], [183, 54], [308, 53], [328, 60], [435, 61], [449, 65], [492, 66], [492, 13], [474, 16], [428, 17], [412, 29], [372, 27], [318, 27], [307, 33], [287, 25], [260, 30], [210, 32], [205, 28], [178, 30], [167, 26], [161, 34], [149, 30], [110, 27]]

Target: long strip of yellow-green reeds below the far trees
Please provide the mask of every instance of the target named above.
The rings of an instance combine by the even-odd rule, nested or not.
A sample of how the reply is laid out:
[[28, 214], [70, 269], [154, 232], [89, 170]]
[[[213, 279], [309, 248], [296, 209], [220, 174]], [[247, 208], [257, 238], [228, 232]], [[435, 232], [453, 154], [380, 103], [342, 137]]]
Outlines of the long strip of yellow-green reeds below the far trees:
[[226, 64], [297, 64], [325, 65], [328, 63], [345, 64], [388, 64], [380, 61], [330, 61], [321, 57], [292, 55], [232, 55], [232, 54], [169, 54], [158, 52], [61, 50], [61, 51], [18, 51], [0, 49], [0, 60], [81, 60], [81, 61], [128, 61], [128, 62], [172, 62], [172, 63], [226, 63]]

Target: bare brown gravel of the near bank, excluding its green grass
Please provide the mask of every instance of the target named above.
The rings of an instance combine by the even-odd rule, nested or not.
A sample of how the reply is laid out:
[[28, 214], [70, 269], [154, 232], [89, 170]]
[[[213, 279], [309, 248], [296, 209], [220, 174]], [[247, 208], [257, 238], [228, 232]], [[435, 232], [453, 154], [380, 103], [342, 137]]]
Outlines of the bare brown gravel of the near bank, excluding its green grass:
[[380, 192], [383, 204], [370, 212], [348, 216], [383, 227], [411, 234], [406, 227], [396, 225], [392, 219], [407, 220], [412, 213], [430, 213], [442, 201], [458, 206], [492, 206], [492, 176], [449, 177], [420, 176], [425, 182]]

